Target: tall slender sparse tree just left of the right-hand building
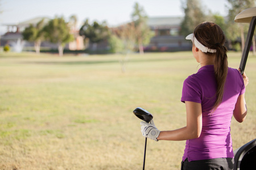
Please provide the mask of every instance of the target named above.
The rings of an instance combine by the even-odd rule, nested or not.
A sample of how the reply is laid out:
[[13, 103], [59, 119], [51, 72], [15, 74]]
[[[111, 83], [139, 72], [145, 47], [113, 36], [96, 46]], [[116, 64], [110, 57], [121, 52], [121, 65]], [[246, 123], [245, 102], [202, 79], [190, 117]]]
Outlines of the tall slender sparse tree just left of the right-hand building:
[[150, 42], [150, 38], [152, 37], [150, 27], [147, 25], [147, 15], [144, 11], [143, 7], [139, 6], [138, 3], [134, 5], [134, 11], [131, 14], [131, 18], [135, 27], [135, 36], [137, 37], [136, 43], [139, 47], [139, 53], [143, 54], [143, 44], [146, 45]]

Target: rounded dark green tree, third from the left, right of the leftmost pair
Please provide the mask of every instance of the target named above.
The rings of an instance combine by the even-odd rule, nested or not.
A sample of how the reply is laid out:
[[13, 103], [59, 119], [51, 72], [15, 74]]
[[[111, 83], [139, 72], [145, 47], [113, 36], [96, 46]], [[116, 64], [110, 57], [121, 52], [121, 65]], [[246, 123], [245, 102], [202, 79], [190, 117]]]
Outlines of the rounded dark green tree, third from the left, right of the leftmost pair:
[[93, 24], [89, 24], [89, 20], [86, 19], [82, 27], [79, 31], [80, 36], [84, 36], [84, 39], [88, 39], [93, 43], [93, 49], [97, 49], [98, 42], [108, 40], [110, 36], [109, 28], [106, 22], [99, 24], [97, 22], [93, 22]]

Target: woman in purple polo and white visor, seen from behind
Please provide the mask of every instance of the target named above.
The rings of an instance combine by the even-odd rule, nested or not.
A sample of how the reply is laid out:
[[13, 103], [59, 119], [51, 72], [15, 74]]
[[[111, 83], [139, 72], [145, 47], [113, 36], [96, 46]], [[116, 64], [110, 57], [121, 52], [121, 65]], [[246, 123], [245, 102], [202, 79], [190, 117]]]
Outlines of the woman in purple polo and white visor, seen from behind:
[[154, 121], [141, 122], [144, 137], [155, 141], [187, 140], [181, 169], [233, 169], [230, 135], [232, 116], [243, 122], [247, 114], [246, 74], [228, 67], [225, 35], [212, 22], [199, 24], [186, 37], [201, 67], [184, 80], [181, 101], [185, 103], [187, 126], [160, 131]]

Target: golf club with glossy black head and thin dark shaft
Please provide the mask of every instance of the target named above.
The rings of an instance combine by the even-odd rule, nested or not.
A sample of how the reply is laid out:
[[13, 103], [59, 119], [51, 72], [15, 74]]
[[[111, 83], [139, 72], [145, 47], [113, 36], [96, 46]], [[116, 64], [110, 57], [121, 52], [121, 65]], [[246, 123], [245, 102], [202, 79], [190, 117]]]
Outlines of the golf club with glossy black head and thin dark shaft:
[[[143, 108], [136, 108], [134, 109], [133, 113], [135, 116], [137, 116], [139, 119], [145, 121], [145, 122], [150, 122], [153, 118], [152, 114], [148, 111], [146, 111]], [[143, 159], [143, 170], [145, 168], [145, 159], [146, 159], [146, 149], [147, 149], [147, 138], [145, 139], [145, 147], [144, 147], [144, 159]]]

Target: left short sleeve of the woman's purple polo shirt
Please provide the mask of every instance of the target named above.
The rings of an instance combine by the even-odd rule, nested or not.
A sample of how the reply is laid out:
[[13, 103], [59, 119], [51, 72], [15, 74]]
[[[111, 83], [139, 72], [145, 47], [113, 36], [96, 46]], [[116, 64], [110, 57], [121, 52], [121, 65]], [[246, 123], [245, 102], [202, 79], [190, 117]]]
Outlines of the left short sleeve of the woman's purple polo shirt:
[[193, 101], [195, 103], [201, 103], [201, 90], [199, 83], [192, 76], [189, 76], [184, 80], [181, 101]]

